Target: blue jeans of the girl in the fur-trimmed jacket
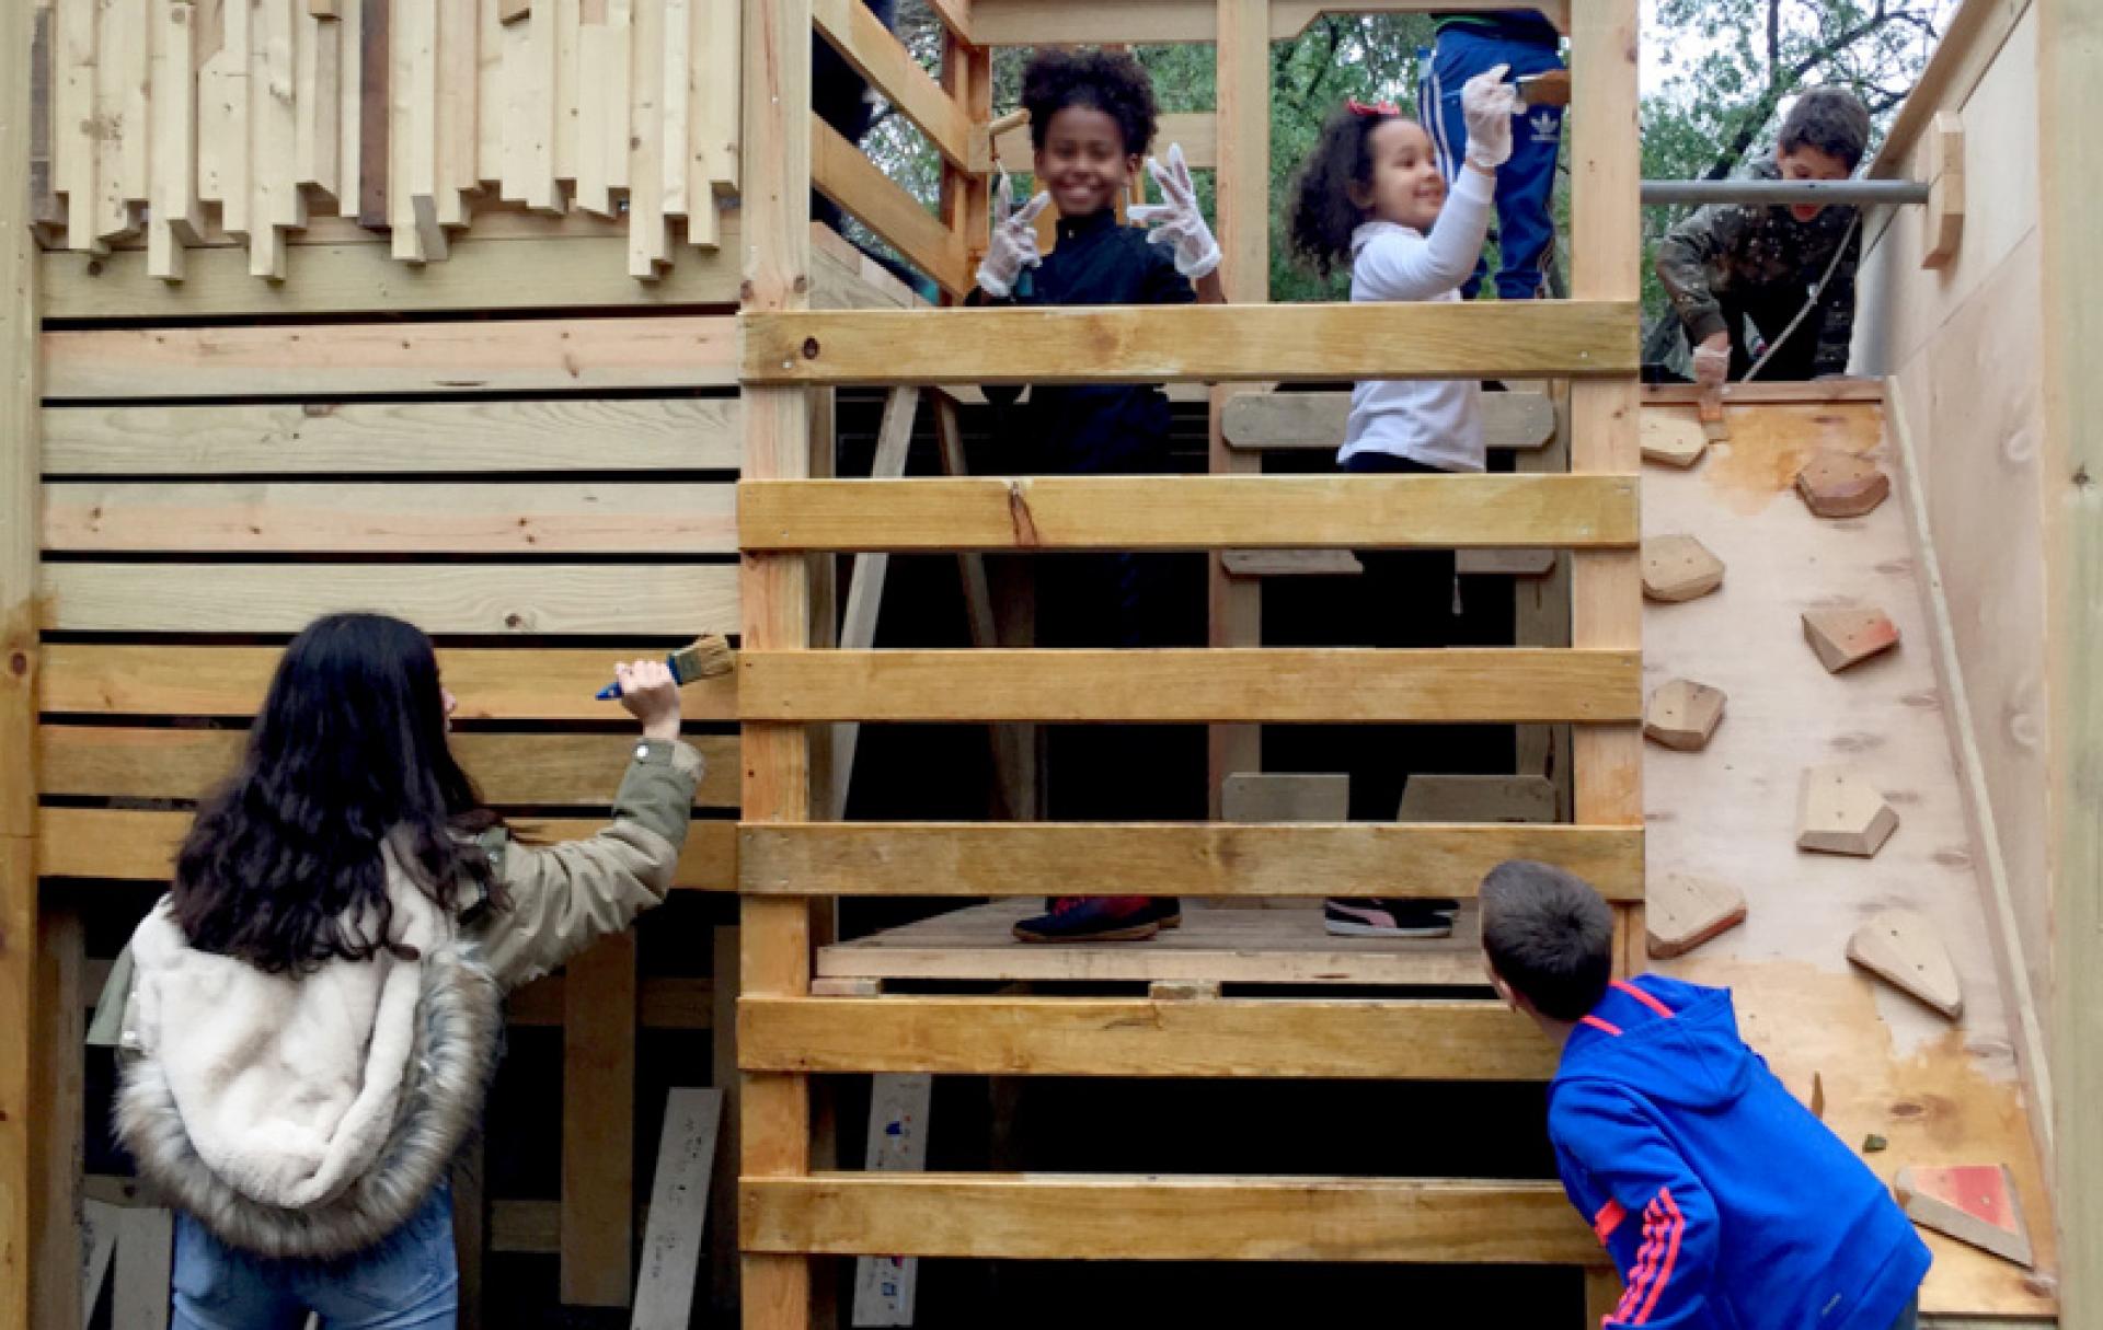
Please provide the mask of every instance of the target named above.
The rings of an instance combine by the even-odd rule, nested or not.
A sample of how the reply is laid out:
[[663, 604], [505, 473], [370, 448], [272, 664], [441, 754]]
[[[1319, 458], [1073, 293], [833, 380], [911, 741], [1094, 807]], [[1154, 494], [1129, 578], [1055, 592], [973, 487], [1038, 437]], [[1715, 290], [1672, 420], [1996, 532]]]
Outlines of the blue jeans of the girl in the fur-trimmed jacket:
[[175, 1217], [172, 1330], [452, 1330], [461, 1275], [452, 1254], [452, 1191], [437, 1187], [379, 1246], [334, 1261], [271, 1261], [240, 1252]]

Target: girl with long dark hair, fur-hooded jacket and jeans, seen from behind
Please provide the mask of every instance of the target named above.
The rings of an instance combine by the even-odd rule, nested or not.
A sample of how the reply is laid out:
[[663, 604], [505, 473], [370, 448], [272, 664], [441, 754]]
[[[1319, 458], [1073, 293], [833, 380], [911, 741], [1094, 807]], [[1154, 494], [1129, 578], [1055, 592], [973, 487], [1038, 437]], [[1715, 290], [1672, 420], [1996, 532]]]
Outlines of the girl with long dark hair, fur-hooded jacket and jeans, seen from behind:
[[336, 614], [286, 647], [97, 1013], [118, 1137], [177, 1208], [179, 1330], [454, 1324], [446, 1179], [503, 994], [656, 906], [686, 838], [677, 685], [616, 677], [644, 740], [614, 819], [536, 847], [454, 761], [423, 632]]

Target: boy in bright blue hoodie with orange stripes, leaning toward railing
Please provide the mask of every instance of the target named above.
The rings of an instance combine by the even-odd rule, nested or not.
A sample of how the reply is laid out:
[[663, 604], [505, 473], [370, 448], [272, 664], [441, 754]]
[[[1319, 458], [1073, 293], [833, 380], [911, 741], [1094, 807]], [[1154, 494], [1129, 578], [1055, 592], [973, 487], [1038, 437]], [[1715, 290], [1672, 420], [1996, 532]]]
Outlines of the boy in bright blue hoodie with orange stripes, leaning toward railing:
[[1926, 1244], [1729, 990], [1613, 979], [1613, 912], [1560, 868], [1499, 864], [1481, 895], [1491, 983], [1563, 1044], [1548, 1139], [1621, 1269], [1605, 1330], [1912, 1330]]

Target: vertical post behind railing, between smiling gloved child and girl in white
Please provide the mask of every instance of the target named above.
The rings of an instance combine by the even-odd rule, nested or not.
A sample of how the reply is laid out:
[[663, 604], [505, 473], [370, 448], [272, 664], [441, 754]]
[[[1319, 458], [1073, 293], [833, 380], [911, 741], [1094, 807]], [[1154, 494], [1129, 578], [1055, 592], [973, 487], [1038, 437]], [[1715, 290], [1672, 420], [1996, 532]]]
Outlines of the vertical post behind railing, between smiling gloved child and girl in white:
[[[1220, 271], [1226, 298], [1260, 305], [1270, 298], [1270, 4], [1268, 0], [1220, 0], [1220, 46], [1216, 71], [1220, 124], [1220, 166], [1216, 212], [1220, 223]], [[1243, 389], [1245, 391], [1245, 389]], [[1220, 429], [1228, 387], [1211, 391], [1211, 448], [1207, 471], [1262, 471], [1264, 454], [1226, 445]], [[1228, 578], [1220, 550], [1209, 572], [1211, 645], [1253, 647], [1264, 635], [1264, 590], [1255, 578]], [[1211, 815], [1220, 815], [1220, 790], [1234, 771], [1262, 769], [1262, 729], [1255, 725], [1211, 727]]]

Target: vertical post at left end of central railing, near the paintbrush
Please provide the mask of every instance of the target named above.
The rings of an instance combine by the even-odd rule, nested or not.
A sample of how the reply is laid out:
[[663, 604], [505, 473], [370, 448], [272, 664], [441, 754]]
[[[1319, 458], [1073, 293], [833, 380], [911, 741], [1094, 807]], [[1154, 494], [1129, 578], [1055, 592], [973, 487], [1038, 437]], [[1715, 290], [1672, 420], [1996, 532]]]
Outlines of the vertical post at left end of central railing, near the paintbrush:
[[[810, 305], [810, 0], [744, 0], [744, 309]], [[744, 389], [744, 475], [795, 479], [810, 471], [803, 389]], [[744, 647], [810, 645], [810, 563], [803, 555], [744, 555]], [[801, 725], [742, 729], [744, 819], [810, 819], [810, 740]], [[740, 992], [810, 992], [808, 897], [740, 901]], [[810, 1172], [810, 1080], [747, 1074], [740, 1177]], [[812, 1324], [808, 1256], [742, 1261], [744, 1324]]]

